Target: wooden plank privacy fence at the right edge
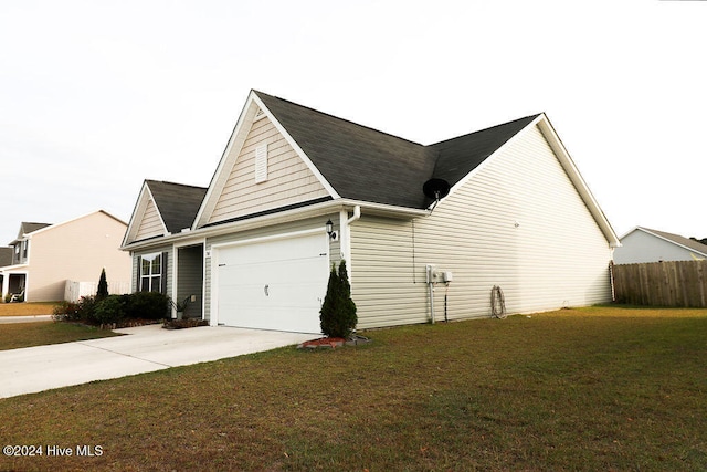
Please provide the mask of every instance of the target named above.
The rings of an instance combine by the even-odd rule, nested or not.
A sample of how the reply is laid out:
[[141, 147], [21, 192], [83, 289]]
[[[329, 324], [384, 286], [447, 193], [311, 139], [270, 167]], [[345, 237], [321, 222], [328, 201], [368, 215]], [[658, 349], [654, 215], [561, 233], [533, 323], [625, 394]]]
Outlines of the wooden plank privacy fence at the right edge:
[[619, 303], [707, 307], [707, 261], [614, 265], [613, 281]]

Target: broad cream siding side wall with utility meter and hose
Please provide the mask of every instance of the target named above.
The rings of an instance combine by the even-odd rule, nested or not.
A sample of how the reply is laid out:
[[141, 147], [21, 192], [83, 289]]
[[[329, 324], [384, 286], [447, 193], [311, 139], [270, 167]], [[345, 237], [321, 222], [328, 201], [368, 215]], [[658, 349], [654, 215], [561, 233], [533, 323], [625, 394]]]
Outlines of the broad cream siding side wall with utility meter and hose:
[[435, 318], [490, 315], [499, 285], [508, 313], [611, 300], [609, 242], [545, 137], [530, 128], [479, 168], [429, 218], [362, 217], [351, 227], [359, 327], [429, 319], [425, 264], [451, 271]]

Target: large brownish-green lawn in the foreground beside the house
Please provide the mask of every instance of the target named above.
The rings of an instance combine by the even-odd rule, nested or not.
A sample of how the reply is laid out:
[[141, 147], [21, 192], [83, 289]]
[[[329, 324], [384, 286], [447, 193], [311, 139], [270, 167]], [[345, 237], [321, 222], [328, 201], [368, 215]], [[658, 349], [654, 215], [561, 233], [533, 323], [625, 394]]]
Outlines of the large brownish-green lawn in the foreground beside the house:
[[368, 333], [0, 400], [0, 470], [706, 470], [707, 311]]

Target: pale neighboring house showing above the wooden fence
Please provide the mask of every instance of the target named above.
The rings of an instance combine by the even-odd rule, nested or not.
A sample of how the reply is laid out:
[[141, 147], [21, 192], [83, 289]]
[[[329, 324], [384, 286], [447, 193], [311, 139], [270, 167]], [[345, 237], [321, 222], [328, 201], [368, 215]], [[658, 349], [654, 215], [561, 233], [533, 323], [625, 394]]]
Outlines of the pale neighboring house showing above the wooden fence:
[[614, 251], [616, 264], [695, 261], [707, 259], [707, 245], [678, 234], [636, 227], [621, 238]]

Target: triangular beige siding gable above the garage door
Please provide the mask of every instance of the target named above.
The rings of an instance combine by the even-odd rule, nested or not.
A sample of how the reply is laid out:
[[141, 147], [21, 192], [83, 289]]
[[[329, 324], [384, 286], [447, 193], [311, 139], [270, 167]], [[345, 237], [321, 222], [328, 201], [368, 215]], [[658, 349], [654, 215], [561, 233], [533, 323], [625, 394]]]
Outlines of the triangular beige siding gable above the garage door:
[[[267, 180], [255, 182], [255, 149], [267, 145]], [[233, 150], [238, 151], [238, 150]], [[209, 222], [224, 221], [328, 192], [267, 118], [253, 124]]]

